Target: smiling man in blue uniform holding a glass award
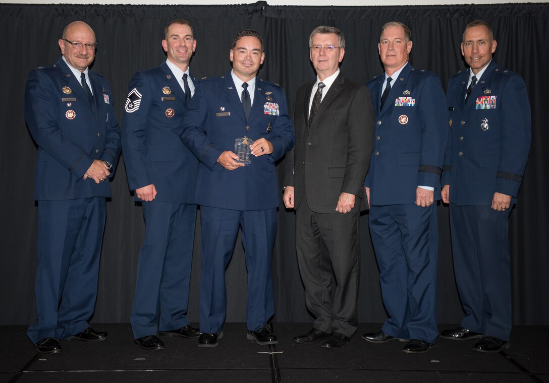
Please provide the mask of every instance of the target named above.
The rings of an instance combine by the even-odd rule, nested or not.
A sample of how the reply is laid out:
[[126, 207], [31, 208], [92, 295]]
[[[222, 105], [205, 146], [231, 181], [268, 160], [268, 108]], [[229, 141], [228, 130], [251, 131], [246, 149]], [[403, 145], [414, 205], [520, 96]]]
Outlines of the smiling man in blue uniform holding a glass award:
[[248, 270], [247, 337], [260, 345], [277, 343], [268, 324], [275, 311], [275, 162], [292, 148], [295, 136], [283, 89], [256, 77], [265, 59], [259, 33], [237, 33], [229, 58], [232, 71], [201, 82], [181, 135], [200, 162], [195, 198], [202, 224], [200, 347], [217, 346], [223, 335], [225, 268], [239, 226]]

